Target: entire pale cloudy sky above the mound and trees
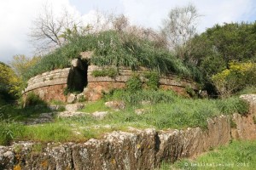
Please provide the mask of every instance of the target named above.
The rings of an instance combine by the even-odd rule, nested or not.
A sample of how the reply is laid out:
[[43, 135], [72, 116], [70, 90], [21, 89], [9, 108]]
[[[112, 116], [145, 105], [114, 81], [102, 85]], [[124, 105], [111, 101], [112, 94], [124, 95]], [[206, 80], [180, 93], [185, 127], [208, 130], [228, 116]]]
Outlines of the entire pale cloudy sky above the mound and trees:
[[170, 9], [193, 3], [202, 15], [198, 30], [224, 22], [256, 20], [255, 0], [0, 0], [0, 61], [9, 63], [15, 54], [33, 55], [28, 34], [45, 2], [56, 13], [63, 8], [90, 20], [96, 10], [125, 14], [132, 24], [159, 29]]

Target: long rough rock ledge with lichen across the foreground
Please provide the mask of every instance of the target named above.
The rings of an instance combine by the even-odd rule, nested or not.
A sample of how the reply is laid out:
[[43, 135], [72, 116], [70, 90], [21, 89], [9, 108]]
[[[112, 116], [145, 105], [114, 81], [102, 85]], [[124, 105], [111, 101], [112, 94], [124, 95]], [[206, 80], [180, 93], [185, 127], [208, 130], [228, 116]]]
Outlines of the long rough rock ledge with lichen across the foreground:
[[[256, 98], [255, 98], [256, 99]], [[0, 146], [0, 169], [154, 169], [161, 161], [195, 157], [231, 138], [256, 139], [250, 110], [248, 116], [219, 116], [208, 120], [208, 129], [113, 132], [83, 144], [20, 142]], [[233, 129], [230, 122], [236, 124]], [[250, 132], [250, 133], [247, 133]], [[233, 136], [232, 136], [233, 135]]]

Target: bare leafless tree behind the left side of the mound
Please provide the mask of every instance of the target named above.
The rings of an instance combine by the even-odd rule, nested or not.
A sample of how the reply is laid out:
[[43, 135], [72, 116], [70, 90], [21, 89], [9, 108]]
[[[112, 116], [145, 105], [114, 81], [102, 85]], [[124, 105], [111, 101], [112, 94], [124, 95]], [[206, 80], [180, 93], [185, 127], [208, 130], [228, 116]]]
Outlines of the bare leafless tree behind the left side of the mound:
[[73, 26], [80, 26], [79, 19], [74, 18], [66, 8], [62, 11], [62, 14], [55, 14], [52, 6], [45, 3], [41, 14], [33, 20], [29, 36], [40, 53], [64, 45], [67, 39], [61, 36], [63, 32], [73, 30]]

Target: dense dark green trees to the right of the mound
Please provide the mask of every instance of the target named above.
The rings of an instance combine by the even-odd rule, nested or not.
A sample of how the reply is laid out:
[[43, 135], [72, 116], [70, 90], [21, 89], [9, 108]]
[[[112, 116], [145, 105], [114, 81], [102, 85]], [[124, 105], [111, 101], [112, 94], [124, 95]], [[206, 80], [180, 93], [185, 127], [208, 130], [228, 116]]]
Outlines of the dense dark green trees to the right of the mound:
[[255, 60], [255, 38], [256, 22], [224, 23], [223, 26], [213, 26], [200, 36], [195, 36], [190, 41], [193, 44], [193, 48], [190, 48], [192, 51], [186, 55], [190, 62], [201, 67], [211, 77], [225, 68], [229, 69], [231, 61]]

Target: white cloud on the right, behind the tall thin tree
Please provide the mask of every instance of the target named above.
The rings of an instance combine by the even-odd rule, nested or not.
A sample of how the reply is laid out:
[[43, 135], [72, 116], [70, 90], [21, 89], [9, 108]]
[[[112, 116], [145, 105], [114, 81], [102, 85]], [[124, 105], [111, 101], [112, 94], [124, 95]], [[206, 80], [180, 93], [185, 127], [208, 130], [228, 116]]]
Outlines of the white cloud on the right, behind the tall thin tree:
[[[253, 0], [121, 0], [125, 14], [131, 22], [137, 25], [150, 26], [158, 29], [168, 12], [177, 6], [193, 3], [198, 8], [201, 17], [199, 30], [204, 31], [217, 23], [249, 20], [251, 14], [256, 14]], [[255, 6], [255, 4], [254, 4]]]

